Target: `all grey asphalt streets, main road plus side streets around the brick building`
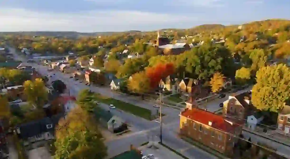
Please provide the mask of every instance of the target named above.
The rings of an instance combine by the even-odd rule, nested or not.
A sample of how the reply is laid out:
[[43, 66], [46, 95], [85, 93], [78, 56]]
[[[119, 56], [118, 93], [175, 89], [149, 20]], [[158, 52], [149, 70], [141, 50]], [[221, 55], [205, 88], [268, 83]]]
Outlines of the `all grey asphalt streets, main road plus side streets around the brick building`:
[[[14, 54], [14, 59], [23, 61], [24, 65], [33, 66], [36, 71], [38, 71], [41, 75], [52, 75], [50, 77], [50, 82], [54, 80], [61, 80], [67, 85], [67, 90], [69, 90], [70, 95], [77, 96], [78, 92], [82, 89], [90, 89], [91, 91], [101, 93], [102, 95], [106, 95], [109, 97], [113, 97], [115, 99], [134, 104], [136, 106], [140, 106], [146, 109], [150, 109], [153, 111], [156, 111], [157, 108], [154, 108], [155, 101], [142, 101], [139, 98], [131, 97], [124, 94], [118, 94], [114, 93], [110, 90], [110, 88], [104, 88], [104, 87], [95, 87], [95, 86], [86, 86], [84, 83], [80, 83], [79, 81], [75, 81], [74, 78], [69, 78], [70, 75], [61, 73], [60, 71], [48, 71], [48, 67], [43, 65], [38, 65], [37, 63], [26, 63], [26, 59], [22, 56], [19, 56], [17, 53], [15, 53], [13, 48], [10, 48], [11, 53]], [[55, 75], [53, 75], [55, 74]], [[238, 91], [237, 94], [245, 92], [250, 90], [250, 88], [246, 90]], [[219, 108], [219, 104], [226, 99], [229, 98], [229, 95], [226, 95], [223, 99], [216, 99], [214, 101], [207, 103], [207, 110], [214, 112]], [[108, 105], [101, 104], [101, 107], [104, 109], [109, 110]], [[106, 142], [106, 145], [108, 146], [108, 152], [110, 154], [109, 157], [115, 156], [117, 154], [120, 154], [124, 151], [127, 151], [131, 144], [138, 146], [144, 142], [147, 142], [148, 140], [160, 140], [160, 123], [157, 123], [156, 121], [148, 121], [146, 119], [136, 117], [132, 114], [129, 114], [127, 112], [123, 112], [118, 109], [110, 109], [110, 111], [119, 116], [121, 119], [126, 121], [129, 125], [131, 125], [132, 132], [129, 134], [124, 134], [120, 136], [119, 138], [115, 140], [110, 140]], [[200, 158], [217, 158], [187, 142], [184, 140], [178, 138], [177, 132], [179, 129], [179, 114], [180, 110], [176, 110], [173, 108], [168, 107], [162, 107], [162, 112], [166, 114], [166, 116], [163, 117], [163, 128], [162, 128], [162, 141], [164, 144], [168, 145], [172, 149], [175, 149], [176, 151], [182, 151], [182, 154], [188, 158], [192, 159], [200, 159]], [[244, 136], [246, 138], [251, 137], [252, 141], [255, 142], [261, 142], [261, 143], [267, 143], [268, 145], [273, 145], [277, 151], [280, 154], [284, 154], [285, 156], [290, 156], [290, 147], [287, 147], [285, 145], [273, 142], [271, 140], [268, 140], [266, 138], [262, 138], [259, 136], [256, 136], [254, 134], [250, 134], [247, 132], [243, 132]], [[157, 137], [158, 136], [158, 137]]]

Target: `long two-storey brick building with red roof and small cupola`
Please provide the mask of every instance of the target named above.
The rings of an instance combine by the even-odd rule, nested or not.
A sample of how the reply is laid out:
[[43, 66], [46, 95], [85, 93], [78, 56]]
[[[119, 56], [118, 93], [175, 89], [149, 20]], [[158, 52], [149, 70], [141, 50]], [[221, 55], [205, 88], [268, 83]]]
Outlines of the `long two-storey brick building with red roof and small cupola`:
[[[193, 103], [193, 102], [191, 102]], [[242, 125], [233, 123], [217, 114], [187, 104], [180, 113], [180, 134], [220, 153], [231, 156], [236, 138], [242, 133]]]

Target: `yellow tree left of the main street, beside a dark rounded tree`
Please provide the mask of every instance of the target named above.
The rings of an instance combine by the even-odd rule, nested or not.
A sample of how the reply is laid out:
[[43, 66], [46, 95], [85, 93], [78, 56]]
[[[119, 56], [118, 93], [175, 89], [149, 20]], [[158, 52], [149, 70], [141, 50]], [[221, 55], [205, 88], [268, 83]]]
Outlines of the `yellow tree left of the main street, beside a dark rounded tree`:
[[42, 79], [37, 78], [33, 82], [25, 81], [23, 86], [27, 100], [39, 108], [42, 107], [48, 98], [48, 91]]

